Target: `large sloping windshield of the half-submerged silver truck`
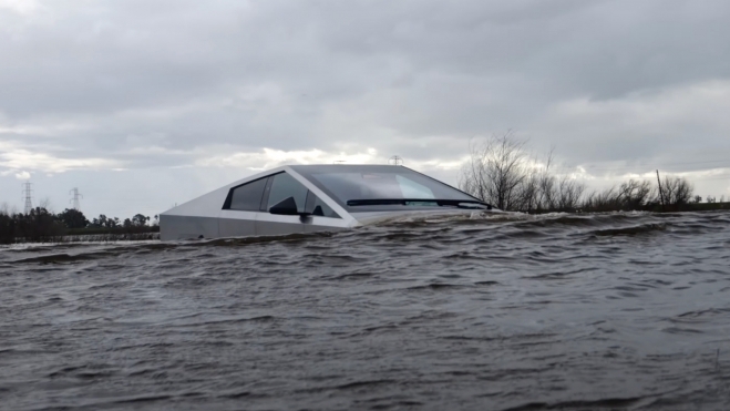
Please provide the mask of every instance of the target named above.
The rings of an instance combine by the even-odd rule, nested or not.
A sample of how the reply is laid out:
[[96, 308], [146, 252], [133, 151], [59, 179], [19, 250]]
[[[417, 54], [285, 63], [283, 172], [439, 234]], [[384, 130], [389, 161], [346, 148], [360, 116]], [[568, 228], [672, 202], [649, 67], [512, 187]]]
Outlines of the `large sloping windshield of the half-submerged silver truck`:
[[[412, 206], [438, 206], [429, 199], [474, 202], [475, 198], [433, 178], [405, 167], [385, 171], [347, 171], [311, 173], [311, 181], [342, 205], [376, 205], [374, 199], [417, 199]], [[384, 203], [388, 204], [388, 203]], [[391, 203], [392, 204], [392, 203]]]

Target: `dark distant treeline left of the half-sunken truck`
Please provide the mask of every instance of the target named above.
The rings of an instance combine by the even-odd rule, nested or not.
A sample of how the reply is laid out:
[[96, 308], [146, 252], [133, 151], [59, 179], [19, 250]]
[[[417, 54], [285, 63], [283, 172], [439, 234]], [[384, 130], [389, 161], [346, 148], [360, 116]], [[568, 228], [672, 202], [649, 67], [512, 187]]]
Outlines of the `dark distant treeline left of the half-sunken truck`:
[[66, 208], [53, 214], [44, 207], [30, 213], [11, 213], [0, 208], [0, 244], [63, 240], [66, 237], [95, 236], [96, 239], [144, 239], [160, 232], [157, 216], [137, 214], [121, 222], [100, 215], [91, 222], [80, 210]]

